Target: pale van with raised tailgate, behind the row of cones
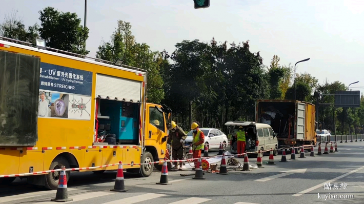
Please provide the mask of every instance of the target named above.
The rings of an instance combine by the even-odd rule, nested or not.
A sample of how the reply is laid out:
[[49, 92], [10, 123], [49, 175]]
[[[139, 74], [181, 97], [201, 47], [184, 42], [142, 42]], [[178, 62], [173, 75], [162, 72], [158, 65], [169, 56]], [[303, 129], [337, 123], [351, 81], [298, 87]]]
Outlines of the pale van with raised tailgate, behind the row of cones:
[[[230, 121], [225, 125], [234, 128], [233, 130], [229, 128], [229, 135], [231, 135], [230, 151], [232, 154], [237, 154], [235, 134], [239, 130], [239, 127], [242, 126], [248, 133], [248, 135], [245, 136], [245, 150], [247, 152], [270, 150], [272, 148], [274, 156], [278, 155], [278, 140], [270, 125], [249, 121]], [[269, 154], [269, 152], [267, 154]], [[257, 156], [257, 153], [254, 154], [254, 156]], [[264, 154], [261, 153], [261, 156], [264, 156]]]

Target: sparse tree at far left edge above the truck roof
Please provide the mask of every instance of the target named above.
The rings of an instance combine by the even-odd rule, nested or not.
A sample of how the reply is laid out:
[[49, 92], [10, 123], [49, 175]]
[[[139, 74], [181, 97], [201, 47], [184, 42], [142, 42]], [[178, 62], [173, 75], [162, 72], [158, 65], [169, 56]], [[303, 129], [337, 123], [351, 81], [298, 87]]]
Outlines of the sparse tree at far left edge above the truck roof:
[[5, 15], [4, 22], [0, 24], [0, 36], [35, 44], [35, 38], [39, 36], [39, 26], [34, 24], [26, 29], [22, 19], [18, 18], [16, 13], [17, 11], [12, 11]]

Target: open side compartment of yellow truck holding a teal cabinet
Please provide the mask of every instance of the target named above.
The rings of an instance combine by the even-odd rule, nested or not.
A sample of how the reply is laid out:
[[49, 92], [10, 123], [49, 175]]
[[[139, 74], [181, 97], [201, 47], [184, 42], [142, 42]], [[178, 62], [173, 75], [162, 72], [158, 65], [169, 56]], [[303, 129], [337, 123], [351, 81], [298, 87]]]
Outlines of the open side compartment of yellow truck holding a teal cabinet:
[[[99, 118], [99, 130], [114, 134], [117, 144], [137, 144], [139, 130], [138, 103], [99, 99], [100, 113], [109, 118]], [[108, 137], [107, 137], [108, 138]], [[109, 142], [106, 139], [105, 142]]]

